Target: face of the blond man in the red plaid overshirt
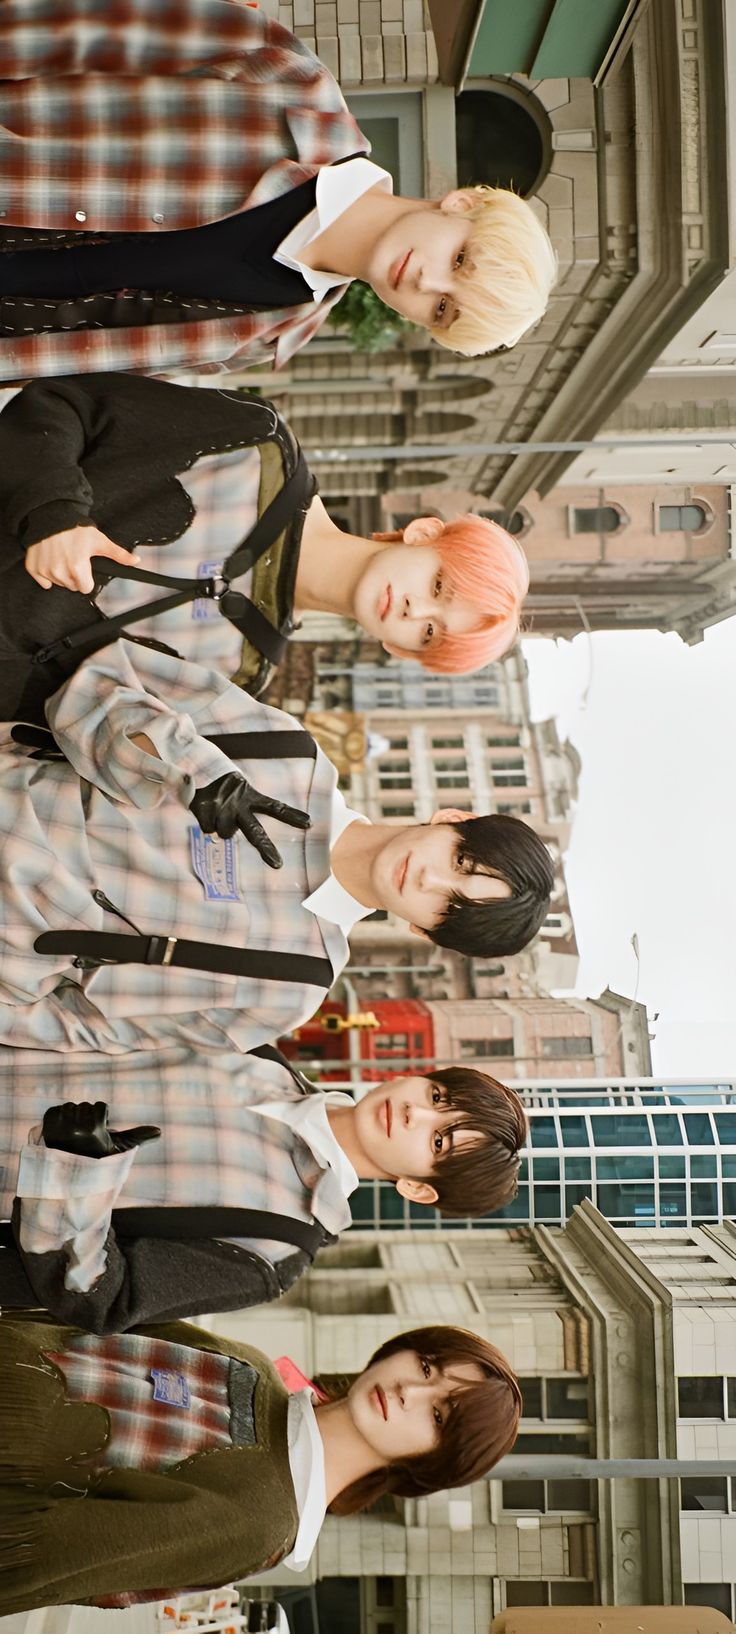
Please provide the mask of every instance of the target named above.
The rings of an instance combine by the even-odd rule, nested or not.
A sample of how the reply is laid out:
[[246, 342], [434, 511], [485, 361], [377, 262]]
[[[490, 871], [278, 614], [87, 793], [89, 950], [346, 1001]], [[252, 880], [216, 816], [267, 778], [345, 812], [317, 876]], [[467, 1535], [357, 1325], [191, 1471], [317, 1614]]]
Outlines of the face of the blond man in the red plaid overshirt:
[[396, 216], [375, 242], [365, 279], [376, 296], [420, 328], [450, 328], [461, 309], [468, 260], [466, 203], [448, 193]]

